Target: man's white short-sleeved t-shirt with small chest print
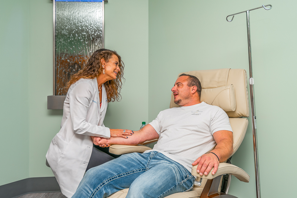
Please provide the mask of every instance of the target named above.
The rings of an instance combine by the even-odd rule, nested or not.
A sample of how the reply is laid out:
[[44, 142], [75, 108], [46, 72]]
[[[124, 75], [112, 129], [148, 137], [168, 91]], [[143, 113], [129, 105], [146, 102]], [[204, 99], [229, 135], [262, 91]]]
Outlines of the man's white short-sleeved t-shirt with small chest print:
[[228, 115], [220, 107], [201, 102], [161, 111], [149, 123], [159, 134], [153, 150], [183, 165], [191, 172], [192, 163], [215, 146], [213, 134], [232, 132]]

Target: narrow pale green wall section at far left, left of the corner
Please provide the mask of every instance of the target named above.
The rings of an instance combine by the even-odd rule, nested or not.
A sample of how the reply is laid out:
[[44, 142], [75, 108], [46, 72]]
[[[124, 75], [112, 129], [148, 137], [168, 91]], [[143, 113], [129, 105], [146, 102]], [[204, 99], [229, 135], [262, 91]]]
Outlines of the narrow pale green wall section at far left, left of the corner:
[[0, 6], [0, 185], [29, 177], [28, 9]]

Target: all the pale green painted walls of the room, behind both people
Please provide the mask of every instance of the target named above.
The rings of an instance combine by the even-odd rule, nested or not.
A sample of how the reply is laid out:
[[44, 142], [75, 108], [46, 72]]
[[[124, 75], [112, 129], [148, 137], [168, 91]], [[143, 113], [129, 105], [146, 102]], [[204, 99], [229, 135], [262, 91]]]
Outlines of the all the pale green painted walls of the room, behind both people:
[[[291, 90], [297, 70], [293, 0], [110, 0], [105, 4], [105, 47], [122, 56], [127, 80], [122, 101], [109, 105], [105, 125], [136, 130], [141, 121], [153, 120], [168, 108], [170, 89], [180, 72], [248, 71], [246, 16], [236, 15], [231, 23], [225, 18], [263, 3], [273, 8], [251, 11], [250, 18], [261, 195], [293, 196], [296, 93]], [[45, 166], [45, 153], [59, 131], [62, 111], [46, 106], [53, 92], [52, 5], [50, 0], [1, 4], [0, 157], [6, 163], [0, 165], [0, 185], [53, 176]], [[232, 162], [251, 180], [233, 178], [230, 193], [255, 197], [250, 126]]]

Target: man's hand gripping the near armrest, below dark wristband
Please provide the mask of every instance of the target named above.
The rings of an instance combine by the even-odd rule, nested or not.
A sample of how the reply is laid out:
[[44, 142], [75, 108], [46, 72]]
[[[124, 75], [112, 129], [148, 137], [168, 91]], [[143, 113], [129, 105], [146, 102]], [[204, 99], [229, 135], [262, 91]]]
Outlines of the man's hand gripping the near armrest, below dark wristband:
[[208, 175], [212, 167], [214, 167], [214, 170], [212, 171], [212, 174], [214, 175], [218, 170], [219, 160], [213, 153], [208, 153], [196, 159], [196, 161], [192, 163], [192, 166], [196, 166], [197, 164], [197, 172], [199, 175]]

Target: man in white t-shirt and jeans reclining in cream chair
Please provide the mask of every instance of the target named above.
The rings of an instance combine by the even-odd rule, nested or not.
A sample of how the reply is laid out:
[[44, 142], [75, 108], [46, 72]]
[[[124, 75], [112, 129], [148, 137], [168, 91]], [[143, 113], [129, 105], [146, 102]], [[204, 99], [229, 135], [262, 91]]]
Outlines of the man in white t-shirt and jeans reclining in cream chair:
[[195, 76], [180, 75], [171, 91], [181, 107], [161, 111], [128, 139], [93, 138], [102, 147], [137, 145], [159, 138], [153, 150], [125, 154], [90, 169], [72, 198], [108, 197], [125, 188], [129, 188], [127, 198], [166, 197], [192, 190], [191, 164], [198, 164], [200, 175], [207, 175], [213, 167], [212, 174], [217, 172], [219, 161], [233, 152], [228, 115], [217, 106], [200, 102], [201, 84]]

